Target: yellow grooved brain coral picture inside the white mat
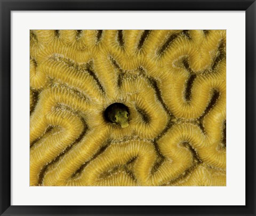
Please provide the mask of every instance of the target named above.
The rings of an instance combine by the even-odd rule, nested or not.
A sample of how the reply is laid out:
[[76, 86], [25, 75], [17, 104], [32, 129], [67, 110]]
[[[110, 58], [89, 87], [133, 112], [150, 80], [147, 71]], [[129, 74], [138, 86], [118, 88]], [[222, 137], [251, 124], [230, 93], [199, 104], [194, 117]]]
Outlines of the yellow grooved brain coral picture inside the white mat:
[[30, 30], [30, 186], [226, 186], [226, 30]]

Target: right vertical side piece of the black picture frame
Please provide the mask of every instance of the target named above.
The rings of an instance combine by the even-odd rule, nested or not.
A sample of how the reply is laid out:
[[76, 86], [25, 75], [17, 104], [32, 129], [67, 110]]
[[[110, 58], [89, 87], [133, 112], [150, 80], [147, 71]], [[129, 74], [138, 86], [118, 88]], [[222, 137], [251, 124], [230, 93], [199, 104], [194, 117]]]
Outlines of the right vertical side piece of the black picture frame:
[[[250, 215], [255, 215], [256, 191], [256, 148], [255, 148], [255, 114], [256, 114], [256, 2], [246, 10], [245, 14], [246, 28], [246, 52], [245, 52], [245, 70], [246, 70], [246, 208]], [[250, 148], [249, 148], [250, 146]], [[249, 213], [248, 212], [248, 213]]]

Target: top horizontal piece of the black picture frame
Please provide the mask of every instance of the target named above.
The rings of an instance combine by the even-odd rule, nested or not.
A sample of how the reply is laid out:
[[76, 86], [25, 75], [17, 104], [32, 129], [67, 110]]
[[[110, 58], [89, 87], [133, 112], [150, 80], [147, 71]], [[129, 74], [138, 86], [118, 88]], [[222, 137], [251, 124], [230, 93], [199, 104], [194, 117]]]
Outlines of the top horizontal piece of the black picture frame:
[[[12, 10], [54, 11], [54, 10], [113, 10], [113, 11], [245, 11], [255, 0], [12, 0]], [[50, 5], [50, 6], [49, 6]]]

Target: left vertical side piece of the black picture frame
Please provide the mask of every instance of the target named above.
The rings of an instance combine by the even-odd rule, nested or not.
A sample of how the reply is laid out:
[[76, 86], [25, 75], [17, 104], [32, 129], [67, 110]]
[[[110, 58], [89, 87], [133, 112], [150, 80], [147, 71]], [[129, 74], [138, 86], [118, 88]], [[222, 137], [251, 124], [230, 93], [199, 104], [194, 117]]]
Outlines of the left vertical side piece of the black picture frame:
[[6, 2], [1, 7], [0, 60], [0, 214], [11, 206], [11, 10]]

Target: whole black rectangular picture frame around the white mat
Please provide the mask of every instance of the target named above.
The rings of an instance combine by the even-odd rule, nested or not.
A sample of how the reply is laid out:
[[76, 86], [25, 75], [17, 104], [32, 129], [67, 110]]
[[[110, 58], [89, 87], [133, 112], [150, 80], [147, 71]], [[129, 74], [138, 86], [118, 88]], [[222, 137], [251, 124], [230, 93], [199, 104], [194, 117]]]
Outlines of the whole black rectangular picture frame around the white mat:
[[[255, 0], [0, 0], [1, 215], [256, 215], [255, 214]], [[179, 10], [246, 11], [245, 206], [13, 206], [11, 205], [11, 11]]]

